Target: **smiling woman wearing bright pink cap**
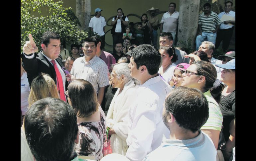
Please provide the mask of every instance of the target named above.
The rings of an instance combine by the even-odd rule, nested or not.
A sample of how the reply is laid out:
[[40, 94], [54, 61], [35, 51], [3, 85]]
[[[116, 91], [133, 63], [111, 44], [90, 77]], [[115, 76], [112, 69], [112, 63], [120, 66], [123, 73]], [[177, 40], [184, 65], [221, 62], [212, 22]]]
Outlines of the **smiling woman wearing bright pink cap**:
[[180, 87], [183, 80], [183, 76], [182, 74], [185, 73], [186, 69], [189, 67], [190, 65], [187, 63], [180, 63], [176, 66], [176, 68], [174, 69], [174, 73], [173, 73], [173, 82], [174, 85], [172, 86], [173, 88], [176, 87]]

